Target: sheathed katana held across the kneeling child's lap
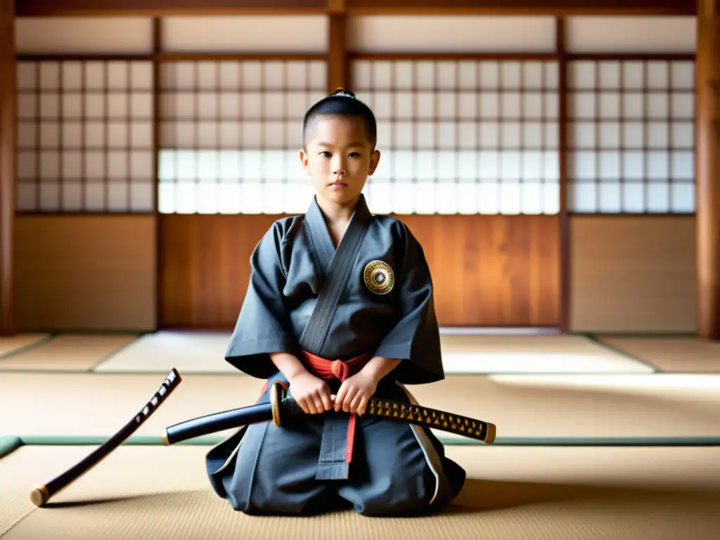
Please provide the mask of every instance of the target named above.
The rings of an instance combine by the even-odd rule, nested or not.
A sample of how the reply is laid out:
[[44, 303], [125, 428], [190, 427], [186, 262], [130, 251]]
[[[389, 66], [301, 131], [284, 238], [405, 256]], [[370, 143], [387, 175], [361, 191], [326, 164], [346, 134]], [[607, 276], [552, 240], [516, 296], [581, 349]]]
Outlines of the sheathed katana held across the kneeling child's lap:
[[[258, 403], [238, 409], [200, 416], [192, 420], [176, 423], [165, 429], [161, 435], [165, 446], [186, 441], [217, 431], [240, 428], [253, 423], [272, 420], [275, 426], [281, 426], [282, 420], [304, 415], [297, 401], [284, 394], [282, 384], [276, 382], [270, 388], [270, 402]], [[391, 400], [372, 398], [369, 400], [366, 415], [379, 416], [397, 422], [447, 431], [474, 438], [487, 444], [495, 441], [495, 424], [468, 418], [467, 416], [446, 413], [442, 410], [423, 407]]]

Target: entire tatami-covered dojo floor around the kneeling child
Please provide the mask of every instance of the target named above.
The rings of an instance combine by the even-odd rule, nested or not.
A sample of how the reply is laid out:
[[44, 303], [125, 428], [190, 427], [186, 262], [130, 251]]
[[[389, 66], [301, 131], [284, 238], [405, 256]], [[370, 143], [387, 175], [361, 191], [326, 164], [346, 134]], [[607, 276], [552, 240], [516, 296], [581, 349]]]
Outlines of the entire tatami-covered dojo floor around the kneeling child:
[[[429, 407], [498, 426], [492, 446], [438, 435], [468, 471], [441, 516], [250, 518], [217, 500], [217, 433], [160, 446], [162, 428], [248, 405], [261, 382], [222, 361], [228, 333], [0, 338], [0, 537], [17, 539], [717, 539], [720, 344], [688, 337], [444, 333]], [[30, 491], [183, 377], [127, 444], [45, 508]], [[4, 436], [4, 438], [3, 438]], [[5, 449], [5, 452], [2, 449]]]

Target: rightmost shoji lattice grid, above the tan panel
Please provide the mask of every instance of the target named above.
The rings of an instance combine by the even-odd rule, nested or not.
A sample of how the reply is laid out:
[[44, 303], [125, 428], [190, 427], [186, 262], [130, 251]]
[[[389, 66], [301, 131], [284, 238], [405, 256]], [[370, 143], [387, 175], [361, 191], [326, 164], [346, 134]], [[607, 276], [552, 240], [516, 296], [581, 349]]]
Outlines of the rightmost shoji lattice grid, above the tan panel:
[[694, 77], [692, 60], [570, 63], [570, 211], [695, 211]]

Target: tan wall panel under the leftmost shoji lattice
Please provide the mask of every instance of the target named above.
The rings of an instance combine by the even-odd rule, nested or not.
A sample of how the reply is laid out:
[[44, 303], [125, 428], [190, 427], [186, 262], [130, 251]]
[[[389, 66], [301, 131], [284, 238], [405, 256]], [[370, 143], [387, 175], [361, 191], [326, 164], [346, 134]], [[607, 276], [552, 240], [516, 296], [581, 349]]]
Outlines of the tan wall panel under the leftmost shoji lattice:
[[20, 331], [153, 330], [153, 216], [15, 218]]

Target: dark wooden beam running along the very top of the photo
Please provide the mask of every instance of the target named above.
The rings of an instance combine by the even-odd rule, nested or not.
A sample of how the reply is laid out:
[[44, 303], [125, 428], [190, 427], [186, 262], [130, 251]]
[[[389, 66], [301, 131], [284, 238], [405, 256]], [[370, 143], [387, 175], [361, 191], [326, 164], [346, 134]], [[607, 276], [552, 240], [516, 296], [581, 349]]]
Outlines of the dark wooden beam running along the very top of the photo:
[[[337, 0], [15, 0], [18, 17], [333, 13]], [[693, 0], [341, 0], [346, 14], [694, 15]]]

